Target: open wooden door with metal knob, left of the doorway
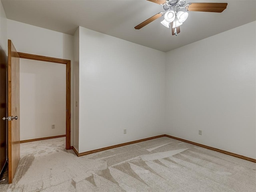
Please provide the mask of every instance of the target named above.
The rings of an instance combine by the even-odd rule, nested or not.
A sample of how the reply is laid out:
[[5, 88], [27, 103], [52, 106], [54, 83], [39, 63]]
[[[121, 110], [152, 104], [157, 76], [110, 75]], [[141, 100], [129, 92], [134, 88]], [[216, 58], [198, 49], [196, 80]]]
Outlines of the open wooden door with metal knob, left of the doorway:
[[20, 161], [20, 56], [8, 40], [8, 174], [12, 183]]

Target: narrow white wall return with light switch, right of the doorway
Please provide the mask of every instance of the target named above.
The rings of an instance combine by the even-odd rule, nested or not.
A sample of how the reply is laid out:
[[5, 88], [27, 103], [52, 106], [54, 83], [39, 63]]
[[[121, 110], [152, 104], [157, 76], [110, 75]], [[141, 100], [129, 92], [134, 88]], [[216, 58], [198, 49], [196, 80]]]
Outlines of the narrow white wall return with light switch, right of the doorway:
[[79, 151], [79, 28], [74, 34], [74, 148]]

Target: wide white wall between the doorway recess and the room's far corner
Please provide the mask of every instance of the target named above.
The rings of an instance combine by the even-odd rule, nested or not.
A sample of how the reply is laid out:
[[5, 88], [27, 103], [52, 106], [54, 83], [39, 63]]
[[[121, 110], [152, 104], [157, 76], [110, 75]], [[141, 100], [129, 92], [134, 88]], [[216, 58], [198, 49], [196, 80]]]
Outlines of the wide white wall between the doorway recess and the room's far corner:
[[79, 152], [164, 134], [165, 53], [82, 27], [79, 38]]

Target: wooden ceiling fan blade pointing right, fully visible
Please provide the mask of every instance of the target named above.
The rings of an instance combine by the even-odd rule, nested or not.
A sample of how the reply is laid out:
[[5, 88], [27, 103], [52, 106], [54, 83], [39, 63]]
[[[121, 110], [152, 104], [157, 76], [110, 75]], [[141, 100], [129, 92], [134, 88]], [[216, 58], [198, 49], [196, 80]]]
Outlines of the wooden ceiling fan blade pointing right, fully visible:
[[227, 3], [191, 3], [186, 5], [188, 11], [203, 11], [221, 13], [227, 8]]

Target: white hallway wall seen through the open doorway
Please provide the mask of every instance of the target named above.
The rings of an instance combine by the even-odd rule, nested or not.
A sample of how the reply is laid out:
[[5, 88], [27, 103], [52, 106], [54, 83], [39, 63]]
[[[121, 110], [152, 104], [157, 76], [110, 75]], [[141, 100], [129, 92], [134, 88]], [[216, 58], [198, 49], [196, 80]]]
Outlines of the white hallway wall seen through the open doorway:
[[66, 66], [20, 59], [20, 140], [64, 134]]

